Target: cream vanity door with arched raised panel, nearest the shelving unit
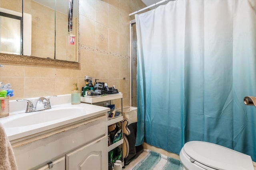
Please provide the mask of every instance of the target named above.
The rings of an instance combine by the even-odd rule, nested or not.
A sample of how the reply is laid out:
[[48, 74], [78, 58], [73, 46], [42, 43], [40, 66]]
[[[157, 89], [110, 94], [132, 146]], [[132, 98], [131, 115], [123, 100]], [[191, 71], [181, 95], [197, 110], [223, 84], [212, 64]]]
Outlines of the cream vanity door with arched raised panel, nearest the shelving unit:
[[106, 136], [66, 154], [66, 170], [107, 170]]

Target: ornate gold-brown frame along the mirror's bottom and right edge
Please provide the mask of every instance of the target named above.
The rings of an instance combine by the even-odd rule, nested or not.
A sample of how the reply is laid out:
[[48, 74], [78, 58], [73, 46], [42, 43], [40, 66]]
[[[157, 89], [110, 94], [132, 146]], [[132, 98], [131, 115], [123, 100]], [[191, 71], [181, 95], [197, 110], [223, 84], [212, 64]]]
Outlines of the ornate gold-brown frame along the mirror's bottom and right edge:
[[80, 26], [79, 25], [80, 25], [80, 13], [78, 10], [78, 62], [40, 58], [40, 57], [26, 56], [26, 55], [0, 53], [0, 64], [41, 66], [41, 67], [51, 67], [51, 68], [70, 68], [70, 69], [80, 70], [81, 64], [80, 64]]

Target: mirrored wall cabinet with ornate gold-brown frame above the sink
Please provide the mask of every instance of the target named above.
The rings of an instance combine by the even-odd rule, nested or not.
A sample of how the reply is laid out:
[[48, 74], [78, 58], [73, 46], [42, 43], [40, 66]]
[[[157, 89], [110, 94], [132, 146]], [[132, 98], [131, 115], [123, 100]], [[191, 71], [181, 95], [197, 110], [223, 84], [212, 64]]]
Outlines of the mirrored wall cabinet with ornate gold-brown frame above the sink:
[[[68, 2], [71, 1], [73, 1], [72, 35], [75, 35], [75, 39], [72, 40], [74, 43], [69, 42], [70, 29], [68, 29], [68, 25], [70, 26]], [[0, 63], [80, 69], [78, 62], [78, 0], [23, 0], [23, 2], [22, 0], [3, 0], [0, 3], [0, 8], [23, 14], [23, 29], [21, 30], [23, 39], [20, 41], [23, 53], [19, 55], [19, 53], [1, 51]], [[30, 15], [31, 21], [26, 21], [25, 14]], [[29, 30], [24, 28], [29, 25], [26, 23], [31, 23], [30, 33], [26, 33]], [[26, 38], [31, 39], [28, 43], [28, 47], [31, 49], [26, 47]]]

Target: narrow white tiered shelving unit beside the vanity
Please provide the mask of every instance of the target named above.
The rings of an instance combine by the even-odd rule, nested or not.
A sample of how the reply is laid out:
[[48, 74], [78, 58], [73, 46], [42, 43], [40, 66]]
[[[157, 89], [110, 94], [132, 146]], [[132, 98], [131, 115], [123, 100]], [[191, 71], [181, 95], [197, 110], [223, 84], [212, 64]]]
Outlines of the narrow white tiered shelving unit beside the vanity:
[[[119, 115], [118, 117], [113, 117], [113, 118], [108, 117], [107, 126], [109, 126], [109, 125], [113, 125], [114, 123], [123, 121], [123, 94], [122, 93], [110, 94], [107, 96], [85, 96], [85, 97], [81, 97], [81, 102], [95, 104], [98, 102], [110, 101], [110, 104], [111, 104], [111, 100], [115, 100], [115, 99], [121, 99], [121, 110], [122, 111], [121, 111], [121, 115]], [[123, 126], [123, 123], [122, 123], [122, 126]], [[123, 129], [123, 127], [122, 127], [122, 129]], [[122, 139], [120, 141], [108, 146], [108, 152], [115, 149], [116, 147], [122, 145], [123, 143], [124, 143], [124, 139], [123, 139], [123, 132], [122, 132]], [[108, 145], [108, 144], [106, 144], [106, 145]], [[123, 147], [123, 145], [122, 145], [122, 147]], [[124, 166], [124, 157], [123, 156], [122, 156], [122, 166]]]

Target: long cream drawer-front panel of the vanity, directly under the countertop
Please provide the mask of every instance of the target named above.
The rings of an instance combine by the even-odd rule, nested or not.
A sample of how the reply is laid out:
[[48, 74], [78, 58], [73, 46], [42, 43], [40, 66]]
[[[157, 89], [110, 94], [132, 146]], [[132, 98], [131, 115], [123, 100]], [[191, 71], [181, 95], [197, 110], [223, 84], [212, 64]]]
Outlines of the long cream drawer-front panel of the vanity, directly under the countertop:
[[12, 143], [19, 170], [36, 169], [99, 138], [107, 138], [106, 114]]

